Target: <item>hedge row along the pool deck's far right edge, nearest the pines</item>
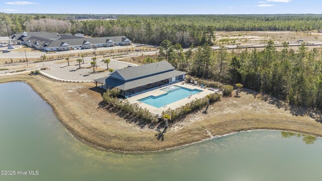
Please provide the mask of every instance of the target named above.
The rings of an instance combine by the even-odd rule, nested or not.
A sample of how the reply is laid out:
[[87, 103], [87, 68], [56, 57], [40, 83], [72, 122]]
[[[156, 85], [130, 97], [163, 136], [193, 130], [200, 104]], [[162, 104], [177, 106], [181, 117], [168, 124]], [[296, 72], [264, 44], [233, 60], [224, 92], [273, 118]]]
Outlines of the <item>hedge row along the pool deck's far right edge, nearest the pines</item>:
[[223, 96], [228, 96], [229, 97], [229, 96], [231, 96], [231, 93], [233, 91], [233, 86], [231, 86], [231, 85], [224, 85], [224, 84], [222, 84], [220, 82], [204, 80], [204, 79], [201, 79], [201, 78], [186, 75], [186, 82], [190, 83], [190, 80], [197, 81], [199, 84], [207, 85], [207, 87], [219, 88], [219, 89], [222, 90], [222, 95]]

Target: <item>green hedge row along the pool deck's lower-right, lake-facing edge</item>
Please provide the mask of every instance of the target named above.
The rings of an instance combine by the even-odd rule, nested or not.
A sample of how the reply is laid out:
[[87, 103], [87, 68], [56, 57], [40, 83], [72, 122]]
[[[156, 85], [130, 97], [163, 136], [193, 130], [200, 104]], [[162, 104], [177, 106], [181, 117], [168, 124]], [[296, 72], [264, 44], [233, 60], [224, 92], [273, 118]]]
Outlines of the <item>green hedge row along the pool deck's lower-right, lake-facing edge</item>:
[[177, 109], [173, 110], [169, 108], [167, 111], [163, 111], [162, 115], [170, 115], [171, 120], [174, 121], [178, 118], [182, 118], [188, 115], [193, 111], [200, 110], [206, 107], [208, 105], [208, 99], [209, 103], [215, 103], [220, 100], [220, 97], [221, 96], [218, 93], [210, 94], [207, 95], [207, 97], [205, 98], [195, 99], [190, 103], [187, 103], [186, 105], [181, 106]]

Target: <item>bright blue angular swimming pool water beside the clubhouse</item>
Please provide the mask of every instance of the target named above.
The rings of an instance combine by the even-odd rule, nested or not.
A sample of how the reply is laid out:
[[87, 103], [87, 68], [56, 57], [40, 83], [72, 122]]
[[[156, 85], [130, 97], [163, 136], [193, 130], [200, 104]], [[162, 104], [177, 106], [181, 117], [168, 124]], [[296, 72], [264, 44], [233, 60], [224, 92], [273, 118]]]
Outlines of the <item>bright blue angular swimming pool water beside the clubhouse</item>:
[[202, 92], [199, 89], [190, 89], [185, 88], [181, 86], [173, 86], [174, 88], [163, 88], [161, 91], [165, 91], [166, 93], [160, 96], [149, 96], [140, 100], [137, 100], [139, 102], [154, 106], [156, 108], [161, 108], [163, 106], [169, 105], [171, 103], [177, 102], [179, 100], [182, 100], [184, 98], [188, 98], [189, 94], [192, 95], [198, 94]]

